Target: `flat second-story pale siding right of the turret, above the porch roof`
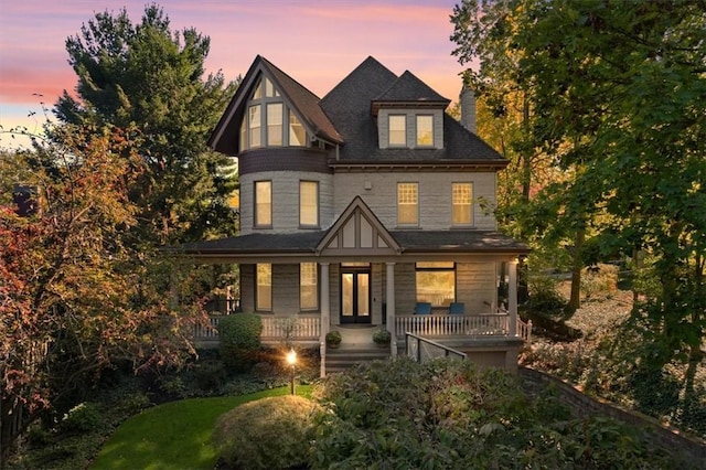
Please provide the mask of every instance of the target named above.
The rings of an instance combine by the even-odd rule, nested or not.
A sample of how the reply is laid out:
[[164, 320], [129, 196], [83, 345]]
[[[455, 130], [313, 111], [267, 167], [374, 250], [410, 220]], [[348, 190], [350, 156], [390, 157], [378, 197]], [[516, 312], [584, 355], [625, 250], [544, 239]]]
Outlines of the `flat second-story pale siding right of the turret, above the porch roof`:
[[396, 228], [397, 183], [418, 183], [420, 229], [453, 228], [452, 183], [472, 183], [473, 185], [472, 226], [479, 229], [496, 228], [493, 214], [484, 214], [479, 204], [482, 199], [491, 210], [496, 205], [495, 173], [493, 172], [336, 173], [333, 177], [334, 216], [340, 215], [353, 197], [361, 195], [387, 229]]

